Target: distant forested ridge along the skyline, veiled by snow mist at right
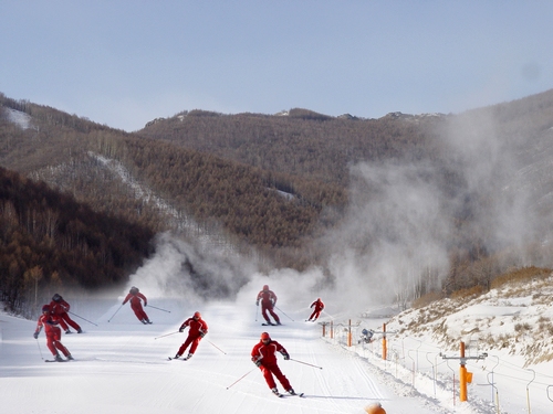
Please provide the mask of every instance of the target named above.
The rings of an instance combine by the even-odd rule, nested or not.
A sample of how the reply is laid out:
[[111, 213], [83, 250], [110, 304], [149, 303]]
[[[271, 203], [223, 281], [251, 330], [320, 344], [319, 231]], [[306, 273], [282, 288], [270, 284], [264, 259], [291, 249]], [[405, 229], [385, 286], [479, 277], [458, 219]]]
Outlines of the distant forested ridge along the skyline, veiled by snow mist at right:
[[[403, 191], [403, 200], [399, 194], [383, 199], [388, 208], [382, 212], [375, 205], [364, 210], [364, 220], [374, 221], [369, 234], [357, 225], [357, 234], [347, 235], [356, 240], [352, 245], [359, 253], [371, 251], [371, 241], [401, 238], [396, 234], [400, 230], [390, 229], [414, 214], [406, 208], [395, 216], [393, 206], [405, 202], [409, 191], [420, 195], [428, 190], [432, 205], [413, 201], [410, 210], [439, 211], [439, 220], [428, 220], [437, 229], [445, 216], [445, 234], [431, 237], [447, 250], [451, 268], [446, 270], [447, 285], [461, 287], [489, 284], [498, 272], [478, 270], [486, 276], [473, 276], [471, 269], [471, 276], [459, 277], [458, 270], [465, 273], [471, 263], [490, 259], [494, 264], [484, 267], [495, 268], [498, 262], [532, 264], [549, 254], [543, 242], [553, 230], [547, 224], [553, 205], [552, 127], [553, 91], [547, 91], [458, 115], [393, 113], [380, 119], [333, 118], [306, 109], [273, 116], [190, 110], [155, 119], [138, 134], [263, 170], [285, 171], [286, 182], [302, 177], [335, 183], [347, 191], [346, 214], [379, 203], [382, 193], [389, 198], [392, 187]], [[424, 222], [410, 220], [406, 221], [415, 227]]]

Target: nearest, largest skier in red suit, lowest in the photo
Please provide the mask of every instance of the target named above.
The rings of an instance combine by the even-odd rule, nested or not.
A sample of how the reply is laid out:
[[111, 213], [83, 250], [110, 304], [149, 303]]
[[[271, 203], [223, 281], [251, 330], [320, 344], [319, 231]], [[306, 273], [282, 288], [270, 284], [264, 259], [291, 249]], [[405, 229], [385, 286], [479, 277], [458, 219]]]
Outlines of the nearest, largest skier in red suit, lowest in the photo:
[[286, 376], [281, 372], [279, 365], [276, 364], [275, 352], [282, 353], [285, 360], [290, 359], [289, 353], [279, 342], [273, 341], [268, 332], [261, 333], [261, 339], [251, 350], [251, 360], [259, 367], [263, 378], [267, 381], [267, 385], [271, 391], [280, 396], [279, 389], [276, 389], [276, 383], [274, 382], [273, 374], [276, 376], [279, 382], [282, 384], [288, 393], [295, 395], [294, 389], [290, 385]]

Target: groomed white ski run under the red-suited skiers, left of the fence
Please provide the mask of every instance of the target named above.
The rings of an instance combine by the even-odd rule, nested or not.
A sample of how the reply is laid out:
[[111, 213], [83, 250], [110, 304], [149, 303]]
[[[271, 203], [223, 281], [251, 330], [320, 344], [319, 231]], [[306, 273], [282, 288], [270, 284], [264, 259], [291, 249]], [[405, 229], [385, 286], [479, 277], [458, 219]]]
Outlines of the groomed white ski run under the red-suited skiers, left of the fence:
[[[421, 399], [394, 395], [371, 374], [364, 358], [321, 340], [321, 327], [304, 322], [309, 309], [302, 315], [286, 314], [295, 320], [283, 317], [283, 326], [262, 327], [251, 300], [243, 306], [219, 302], [196, 309], [150, 298], [152, 306], [170, 314], [147, 307], [154, 323], [144, 326], [128, 304], [118, 311], [115, 300], [104, 305], [75, 309], [97, 327], [74, 318], [85, 332], [63, 336], [62, 342], [75, 358], [67, 363], [43, 362], [50, 353], [43, 333], [38, 341], [33, 339], [33, 321], [0, 316], [2, 412], [363, 413], [375, 401], [392, 413], [408, 413], [413, 407], [418, 413], [434, 412]], [[177, 332], [195, 310], [209, 323], [208, 336], [191, 360], [168, 361], [187, 331], [156, 338]], [[250, 361], [251, 348], [263, 330], [290, 352], [294, 361], [280, 359], [280, 365], [294, 389], [307, 397], [278, 399], [270, 392]]]

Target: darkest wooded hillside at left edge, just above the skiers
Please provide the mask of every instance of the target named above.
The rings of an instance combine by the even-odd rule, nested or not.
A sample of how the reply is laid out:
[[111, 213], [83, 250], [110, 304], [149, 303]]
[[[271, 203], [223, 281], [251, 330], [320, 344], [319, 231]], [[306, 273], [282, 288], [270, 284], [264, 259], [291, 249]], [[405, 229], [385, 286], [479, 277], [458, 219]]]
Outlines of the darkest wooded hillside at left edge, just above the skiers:
[[153, 252], [150, 229], [0, 168], [0, 301], [25, 315], [48, 287], [117, 286]]

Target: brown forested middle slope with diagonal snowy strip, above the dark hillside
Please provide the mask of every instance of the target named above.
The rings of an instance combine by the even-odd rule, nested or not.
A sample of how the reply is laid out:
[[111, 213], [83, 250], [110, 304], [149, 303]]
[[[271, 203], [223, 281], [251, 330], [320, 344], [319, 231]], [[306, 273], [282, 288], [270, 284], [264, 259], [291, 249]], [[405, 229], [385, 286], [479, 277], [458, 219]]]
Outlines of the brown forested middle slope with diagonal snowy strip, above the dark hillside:
[[[140, 222], [155, 231], [179, 224], [167, 209], [137, 197], [121, 174], [168, 202], [169, 215], [196, 220], [201, 227], [222, 229], [236, 241], [261, 248], [298, 246], [326, 205], [341, 209], [345, 190], [285, 173], [262, 171], [211, 155], [140, 138], [53, 108], [4, 99], [4, 106], [28, 114], [31, 127], [3, 117], [0, 160], [35, 179], [75, 194], [94, 210]], [[106, 191], [108, 189], [108, 191]], [[282, 191], [285, 191], [284, 194]]]

